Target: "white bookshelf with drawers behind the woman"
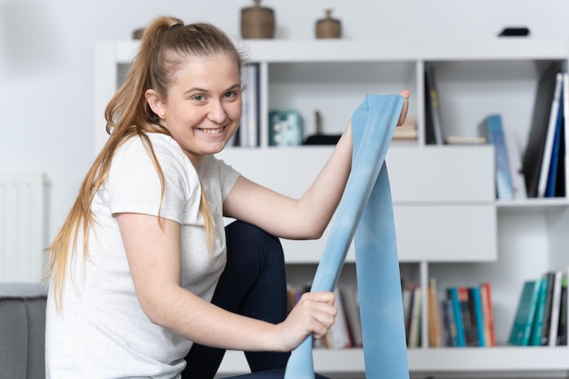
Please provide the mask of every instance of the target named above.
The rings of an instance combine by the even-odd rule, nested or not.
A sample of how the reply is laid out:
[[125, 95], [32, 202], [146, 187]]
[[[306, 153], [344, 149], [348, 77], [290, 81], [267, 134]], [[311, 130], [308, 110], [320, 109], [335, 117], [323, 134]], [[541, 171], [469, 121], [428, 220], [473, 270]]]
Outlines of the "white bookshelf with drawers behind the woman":
[[[242, 174], [277, 191], [301, 194], [330, 155], [330, 146], [268, 146], [272, 109], [294, 109], [304, 136], [314, 134], [314, 110], [324, 131], [344, 130], [365, 93], [411, 90], [409, 115], [418, 122], [414, 144], [394, 144], [389, 168], [400, 261], [405, 273], [426, 288], [493, 285], [495, 348], [409, 349], [413, 375], [525, 372], [540, 377], [569, 372], [567, 347], [505, 345], [522, 283], [548, 269], [569, 266], [567, 199], [494, 200], [494, 152], [489, 146], [424, 144], [424, 64], [435, 66], [445, 135], [476, 135], [486, 115], [500, 113], [522, 150], [527, 142], [535, 87], [544, 63], [566, 64], [569, 41], [511, 38], [444, 41], [270, 40], [245, 42], [260, 66], [261, 140], [258, 148], [227, 148], [219, 156]], [[133, 41], [102, 42], [95, 62], [95, 151], [104, 141], [103, 110], [116, 87], [117, 64], [128, 64]], [[288, 271], [295, 280], [310, 272], [324, 248], [319, 241], [283, 241]], [[346, 271], [353, 271], [348, 254]], [[308, 268], [307, 268], [308, 267]], [[310, 277], [305, 277], [308, 280]], [[349, 278], [347, 280], [350, 280]], [[354, 280], [352, 278], [352, 280]], [[424, 312], [426, 314], [426, 312]], [[423, 341], [428, 341], [427, 319]], [[241, 373], [240, 353], [228, 352], [220, 376]], [[333, 377], [364, 377], [361, 349], [316, 350], [319, 372]], [[426, 375], [425, 374], [425, 375]], [[359, 376], [358, 376], [359, 375]], [[458, 377], [458, 376], [457, 376]]]

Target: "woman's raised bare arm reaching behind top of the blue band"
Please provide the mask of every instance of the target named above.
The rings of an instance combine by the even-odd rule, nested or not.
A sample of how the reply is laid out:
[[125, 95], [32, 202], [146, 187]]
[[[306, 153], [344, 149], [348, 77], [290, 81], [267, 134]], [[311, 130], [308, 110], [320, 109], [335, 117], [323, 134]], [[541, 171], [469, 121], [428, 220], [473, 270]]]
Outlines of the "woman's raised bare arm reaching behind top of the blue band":
[[[409, 91], [402, 91], [404, 109], [398, 121], [403, 125]], [[245, 177], [240, 177], [224, 203], [224, 214], [255, 224], [266, 232], [289, 239], [319, 238], [344, 193], [352, 165], [352, 133], [348, 124], [334, 152], [301, 198], [278, 194]]]

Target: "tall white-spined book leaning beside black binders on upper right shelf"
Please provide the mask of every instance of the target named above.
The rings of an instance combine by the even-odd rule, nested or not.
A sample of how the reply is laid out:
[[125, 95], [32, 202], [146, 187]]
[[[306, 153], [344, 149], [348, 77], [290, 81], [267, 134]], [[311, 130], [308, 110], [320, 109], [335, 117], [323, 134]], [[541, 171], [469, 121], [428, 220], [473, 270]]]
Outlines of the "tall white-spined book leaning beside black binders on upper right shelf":
[[[551, 106], [549, 111], [550, 113], [547, 124], [547, 133], [545, 135], [544, 156], [542, 158], [542, 167], [540, 169], [539, 182], [537, 186], [537, 197], [545, 197], [547, 180], [550, 175], [550, 165], [552, 162], [552, 154], [554, 151], [555, 130], [557, 129], [557, 120], [559, 118], [558, 114], [559, 114], [559, 104], [561, 98], [562, 85], [563, 85], [563, 74], [557, 73], [555, 75], [554, 98], [551, 101]], [[555, 166], [555, 173], [556, 173], [556, 166]]]

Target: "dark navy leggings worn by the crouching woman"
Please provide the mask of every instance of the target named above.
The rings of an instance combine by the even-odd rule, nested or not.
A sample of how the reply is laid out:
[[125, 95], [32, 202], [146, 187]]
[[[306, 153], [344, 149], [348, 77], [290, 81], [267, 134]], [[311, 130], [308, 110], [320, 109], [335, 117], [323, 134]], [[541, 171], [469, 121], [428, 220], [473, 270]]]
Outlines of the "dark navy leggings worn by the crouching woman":
[[[278, 238], [240, 221], [225, 227], [227, 265], [212, 303], [230, 312], [280, 323], [286, 317], [284, 254]], [[186, 355], [182, 379], [209, 379], [225, 350], [194, 344]], [[252, 372], [283, 368], [288, 353], [245, 352]]]

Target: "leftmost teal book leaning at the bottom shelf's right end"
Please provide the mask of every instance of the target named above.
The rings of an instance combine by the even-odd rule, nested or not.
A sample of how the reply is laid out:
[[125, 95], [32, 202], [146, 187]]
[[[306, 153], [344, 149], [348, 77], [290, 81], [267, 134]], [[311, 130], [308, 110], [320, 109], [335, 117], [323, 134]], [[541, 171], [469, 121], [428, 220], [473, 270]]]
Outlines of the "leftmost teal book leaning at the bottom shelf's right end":
[[520, 294], [515, 311], [514, 323], [512, 324], [508, 344], [521, 346], [529, 344], [538, 294], [539, 281], [528, 280], [524, 282], [522, 294]]

